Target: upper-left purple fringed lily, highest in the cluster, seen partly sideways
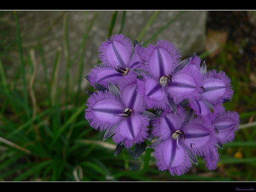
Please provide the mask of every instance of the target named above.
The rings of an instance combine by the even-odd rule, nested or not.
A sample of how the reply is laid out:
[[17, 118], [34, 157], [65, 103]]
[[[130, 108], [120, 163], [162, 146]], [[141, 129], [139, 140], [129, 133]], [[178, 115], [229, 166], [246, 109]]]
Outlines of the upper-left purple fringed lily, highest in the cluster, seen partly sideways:
[[90, 84], [94, 87], [96, 83], [108, 87], [108, 81], [117, 84], [124, 77], [137, 77], [133, 70], [141, 64], [142, 51], [142, 44], [138, 41], [134, 41], [133, 47], [130, 39], [124, 35], [113, 35], [99, 48], [102, 63], [88, 74]]

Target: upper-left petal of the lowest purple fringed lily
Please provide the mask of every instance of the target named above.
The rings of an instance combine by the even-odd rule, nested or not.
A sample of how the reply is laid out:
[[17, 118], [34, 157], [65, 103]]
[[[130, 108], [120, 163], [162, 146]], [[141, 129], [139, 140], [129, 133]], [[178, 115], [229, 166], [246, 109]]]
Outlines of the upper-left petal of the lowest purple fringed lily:
[[152, 134], [159, 139], [167, 139], [172, 137], [172, 133], [180, 130], [185, 120], [186, 112], [183, 107], [178, 106], [176, 115], [171, 109], [163, 111], [159, 119], [152, 120]]

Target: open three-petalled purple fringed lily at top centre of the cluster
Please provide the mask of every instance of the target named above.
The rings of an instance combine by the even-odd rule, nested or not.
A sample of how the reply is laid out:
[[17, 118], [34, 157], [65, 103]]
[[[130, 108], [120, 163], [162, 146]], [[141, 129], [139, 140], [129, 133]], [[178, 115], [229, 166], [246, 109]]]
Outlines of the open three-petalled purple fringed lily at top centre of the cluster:
[[[170, 41], [158, 41], [144, 49], [142, 68], [147, 70], [138, 84], [148, 108], [173, 108], [184, 99], [197, 98], [201, 73], [180, 62], [179, 50]], [[182, 65], [182, 67], [181, 67]]]

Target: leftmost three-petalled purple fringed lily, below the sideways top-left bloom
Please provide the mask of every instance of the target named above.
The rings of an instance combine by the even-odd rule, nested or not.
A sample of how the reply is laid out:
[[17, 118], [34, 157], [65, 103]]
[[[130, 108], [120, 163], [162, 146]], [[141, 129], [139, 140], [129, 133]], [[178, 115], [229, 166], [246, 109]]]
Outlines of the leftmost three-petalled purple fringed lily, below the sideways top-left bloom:
[[[96, 130], [106, 130], [117, 144], [130, 148], [147, 138], [149, 120], [141, 115], [143, 97], [137, 94], [137, 79], [130, 78], [118, 84], [109, 82], [109, 91], [93, 93], [87, 100], [85, 119]], [[106, 139], [106, 138], [105, 138]]]

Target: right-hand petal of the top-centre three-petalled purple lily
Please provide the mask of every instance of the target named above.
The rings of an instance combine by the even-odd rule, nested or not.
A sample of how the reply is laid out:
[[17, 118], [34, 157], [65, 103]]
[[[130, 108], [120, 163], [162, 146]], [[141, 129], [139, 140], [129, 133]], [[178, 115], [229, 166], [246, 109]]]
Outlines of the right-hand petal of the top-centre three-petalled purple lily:
[[166, 89], [175, 103], [183, 99], [196, 99], [199, 98], [201, 91], [201, 78], [200, 70], [196, 70], [192, 65], [186, 65], [172, 76], [171, 83], [166, 86]]

